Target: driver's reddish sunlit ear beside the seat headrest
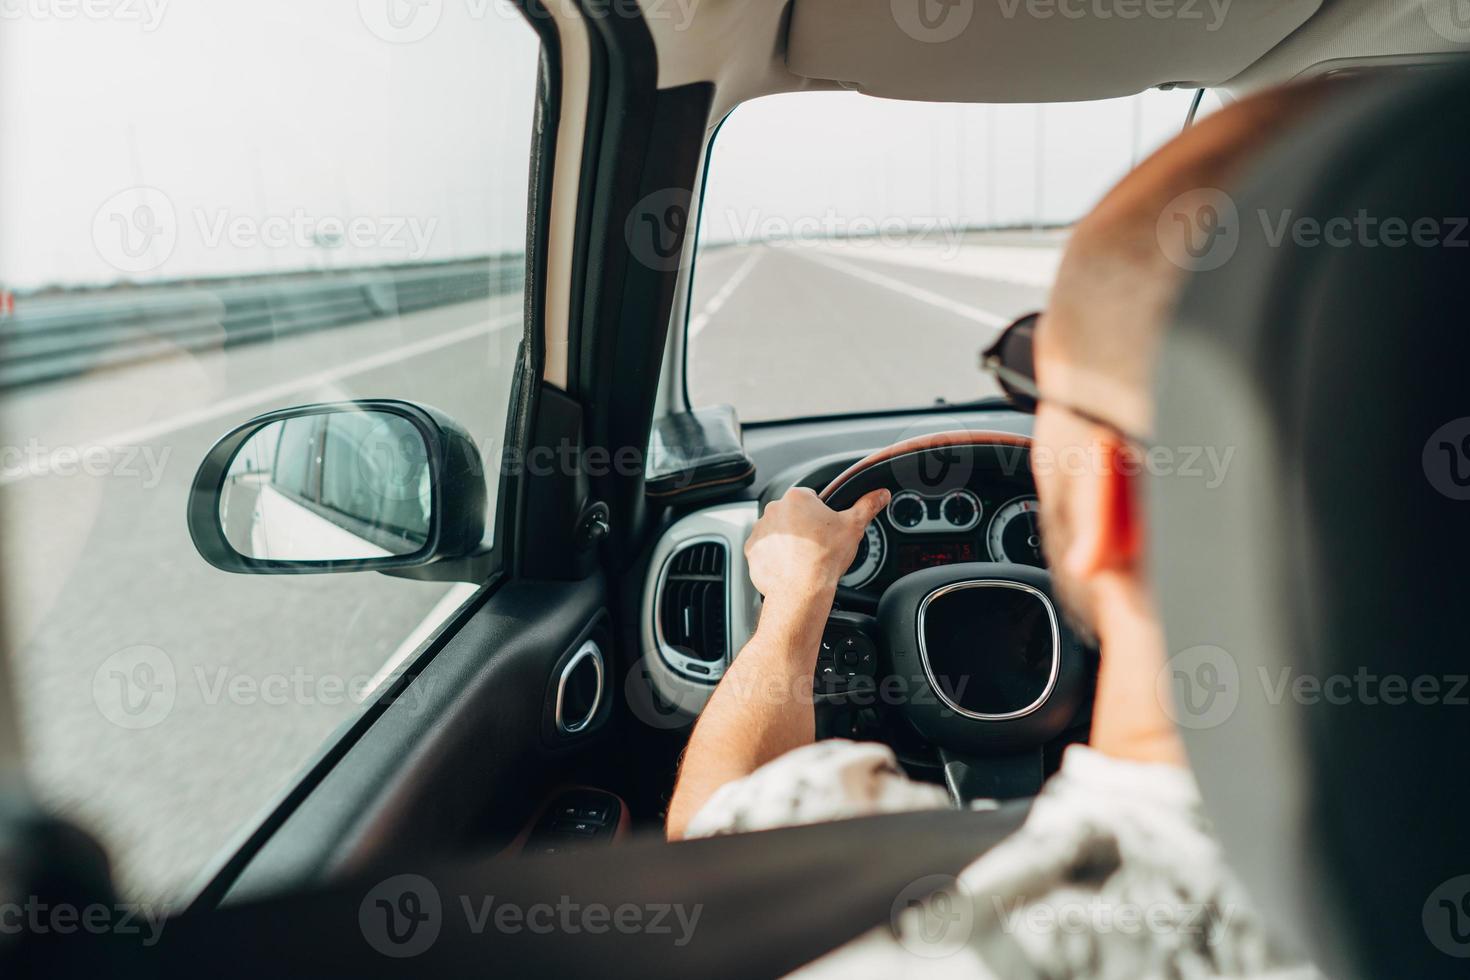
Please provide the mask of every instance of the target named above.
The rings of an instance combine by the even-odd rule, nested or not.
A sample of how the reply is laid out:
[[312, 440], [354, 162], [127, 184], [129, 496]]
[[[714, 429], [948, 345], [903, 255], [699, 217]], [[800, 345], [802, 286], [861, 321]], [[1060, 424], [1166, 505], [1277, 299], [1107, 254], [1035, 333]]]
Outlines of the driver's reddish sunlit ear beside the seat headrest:
[[1091, 450], [1069, 494], [1072, 539], [1063, 563], [1078, 580], [1133, 567], [1144, 547], [1138, 451], [1102, 428], [1094, 430]]

